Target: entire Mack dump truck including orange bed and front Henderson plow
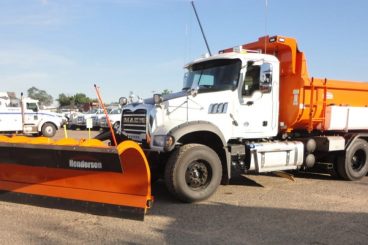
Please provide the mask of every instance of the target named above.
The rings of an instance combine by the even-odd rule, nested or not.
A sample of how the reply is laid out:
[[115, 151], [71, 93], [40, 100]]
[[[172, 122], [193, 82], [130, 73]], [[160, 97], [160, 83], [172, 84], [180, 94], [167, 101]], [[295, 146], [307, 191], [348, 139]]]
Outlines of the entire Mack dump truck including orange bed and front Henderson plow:
[[157, 178], [195, 202], [239, 172], [318, 166], [346, 180], [366, 176], [368, 83], [310, 77], [294, 38], [261, 37], [186, 69], [180, 92], [129, 104], [122, 97], [110, 135], [0, 136], [0, 199], [144, 217]]

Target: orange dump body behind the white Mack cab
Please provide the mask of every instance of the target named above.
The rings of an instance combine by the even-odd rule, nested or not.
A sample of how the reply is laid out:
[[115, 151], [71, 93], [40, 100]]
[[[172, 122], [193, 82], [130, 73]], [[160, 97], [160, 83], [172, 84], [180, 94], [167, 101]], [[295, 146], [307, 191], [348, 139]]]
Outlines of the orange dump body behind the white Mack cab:
[[[294, 38], [261, 37], [244, 49], [261, 50], [280, 61], [280, 128], [323, 130], [330, 105], [368, 106], [368, 83], [311, 78]], [[226, 50], [225, 50], [226, 52]]]

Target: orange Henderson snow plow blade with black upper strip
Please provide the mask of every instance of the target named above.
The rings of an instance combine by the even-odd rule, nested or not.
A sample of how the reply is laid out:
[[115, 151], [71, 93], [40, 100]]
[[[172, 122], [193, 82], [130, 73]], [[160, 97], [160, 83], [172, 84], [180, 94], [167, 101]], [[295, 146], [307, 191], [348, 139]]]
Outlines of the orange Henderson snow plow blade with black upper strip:
[[5, 201], [140, 220], [153, 200], [147, 159], [132, 141], [0, 136], [0, 191]]

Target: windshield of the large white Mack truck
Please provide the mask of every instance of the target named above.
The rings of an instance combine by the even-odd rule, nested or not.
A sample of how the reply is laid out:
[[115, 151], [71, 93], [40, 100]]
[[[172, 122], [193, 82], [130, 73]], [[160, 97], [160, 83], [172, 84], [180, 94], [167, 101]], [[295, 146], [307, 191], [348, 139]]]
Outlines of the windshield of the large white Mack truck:
[[184, 76], [183, 90], [190, 89], [192, 85], [199, 90], [235, 89], [240, 68], [239, 59], [219, 59], [194, 64], [188, 68]]

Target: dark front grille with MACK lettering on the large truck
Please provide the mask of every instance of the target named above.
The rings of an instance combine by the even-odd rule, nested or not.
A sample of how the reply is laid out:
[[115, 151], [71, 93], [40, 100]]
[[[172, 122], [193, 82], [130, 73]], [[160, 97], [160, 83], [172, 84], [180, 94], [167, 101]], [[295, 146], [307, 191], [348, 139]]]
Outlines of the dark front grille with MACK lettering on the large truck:
[[121, 125], [125, 133], [129, 134], [146, 134], [147, 132], [147, 111], [139, 109], [131, 111], [129, 109], [123, 110]]

